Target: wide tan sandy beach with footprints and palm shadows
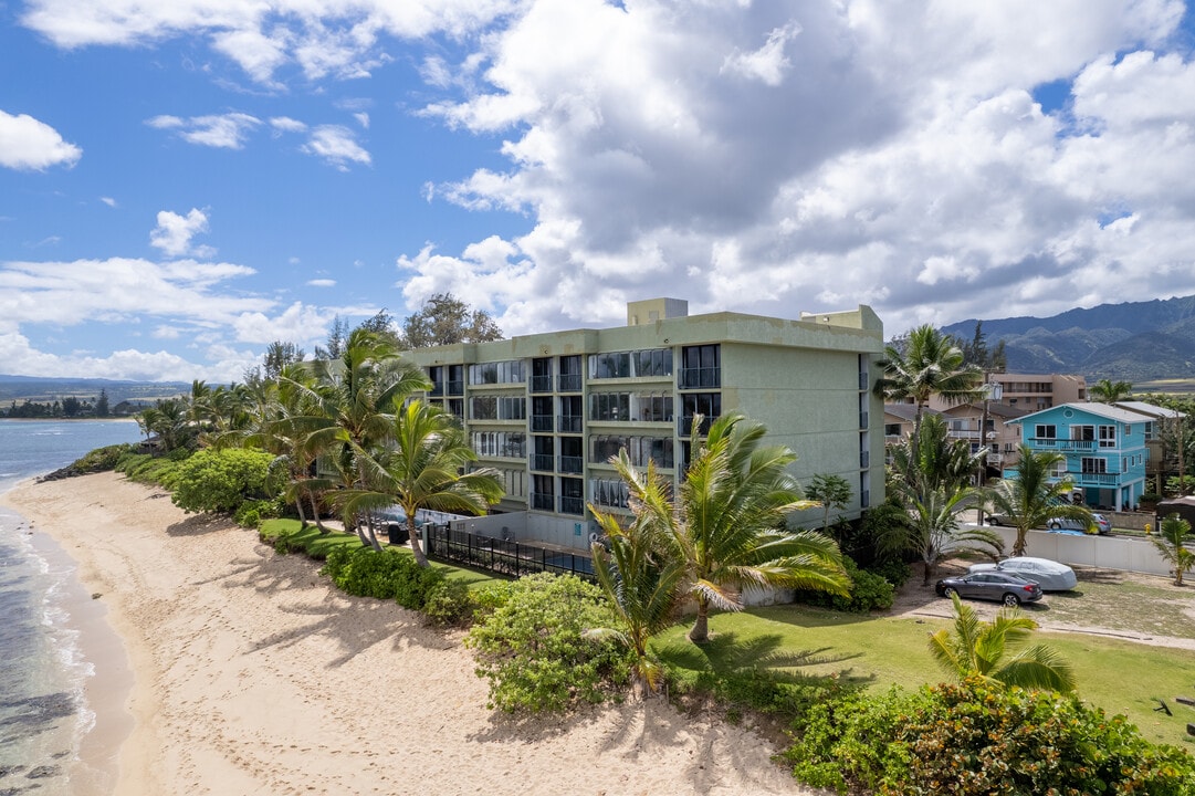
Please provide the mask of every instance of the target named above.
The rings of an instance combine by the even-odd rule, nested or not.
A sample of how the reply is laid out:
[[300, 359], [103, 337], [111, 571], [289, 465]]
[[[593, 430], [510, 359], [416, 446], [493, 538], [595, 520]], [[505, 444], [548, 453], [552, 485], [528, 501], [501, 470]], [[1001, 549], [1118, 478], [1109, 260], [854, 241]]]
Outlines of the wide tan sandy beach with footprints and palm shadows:
[[[78, 562], [123, 641], [131, 682], [103, 676], [120, 650], [97, 650], [88, 688], [100, 720], [84, 755], [115, 773], [103, 791], [813, 792], [761, 737], [660, 699], [494, 714], [459, 633], [343, 595], [313, 562], [122, 476], [26, 483], [4, 502]], [[72, 780], [71, 792], [96, 789]]]

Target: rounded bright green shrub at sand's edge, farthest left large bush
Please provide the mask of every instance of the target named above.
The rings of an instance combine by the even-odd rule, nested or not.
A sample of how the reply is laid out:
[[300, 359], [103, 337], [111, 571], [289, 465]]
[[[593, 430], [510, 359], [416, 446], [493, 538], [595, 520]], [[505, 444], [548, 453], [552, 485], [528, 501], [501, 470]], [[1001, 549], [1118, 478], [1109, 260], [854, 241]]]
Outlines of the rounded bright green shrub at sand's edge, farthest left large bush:
[[235, 512], [246, 500], [276, 491], [269, 483], [271, 461], [262, 451], [200, 451], [178, 464], [171, 500], [184, 512]]

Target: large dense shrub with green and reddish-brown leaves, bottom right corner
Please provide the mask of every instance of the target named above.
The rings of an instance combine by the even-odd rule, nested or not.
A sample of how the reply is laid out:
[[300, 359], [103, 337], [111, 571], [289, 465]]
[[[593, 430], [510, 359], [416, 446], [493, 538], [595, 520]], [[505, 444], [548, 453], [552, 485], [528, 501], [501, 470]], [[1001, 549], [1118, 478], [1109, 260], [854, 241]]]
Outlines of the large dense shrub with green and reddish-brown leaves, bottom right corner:
[[1195, 792], [1195, 759], [1074, 696], [962, 685], [816, 705], [785, 752], [798, 779], [840, 794]]

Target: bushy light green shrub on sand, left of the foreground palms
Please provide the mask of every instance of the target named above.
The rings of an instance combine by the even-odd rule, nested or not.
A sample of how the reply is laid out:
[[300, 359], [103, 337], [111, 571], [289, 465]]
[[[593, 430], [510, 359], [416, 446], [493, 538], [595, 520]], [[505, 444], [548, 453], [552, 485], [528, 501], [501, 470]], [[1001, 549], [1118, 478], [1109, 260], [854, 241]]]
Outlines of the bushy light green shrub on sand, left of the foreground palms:
[[477, 675], [490, 685], [491, 709], [558, 711], [598, 703], [630, 676], [626, 648], [593, 641], [590, 627], [617, 618], [596, 586], [572, 575], [527, 575], [465, 638], [477, 650]]

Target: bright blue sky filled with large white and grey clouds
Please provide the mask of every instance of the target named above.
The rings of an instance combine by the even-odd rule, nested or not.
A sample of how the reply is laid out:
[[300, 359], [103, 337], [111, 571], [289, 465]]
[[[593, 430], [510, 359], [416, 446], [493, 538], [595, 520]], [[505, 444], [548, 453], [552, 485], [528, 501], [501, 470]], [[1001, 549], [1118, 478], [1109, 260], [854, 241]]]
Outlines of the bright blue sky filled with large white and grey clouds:
[[0, 373], [1195, 294], [1176, 0], [0, 0]]

